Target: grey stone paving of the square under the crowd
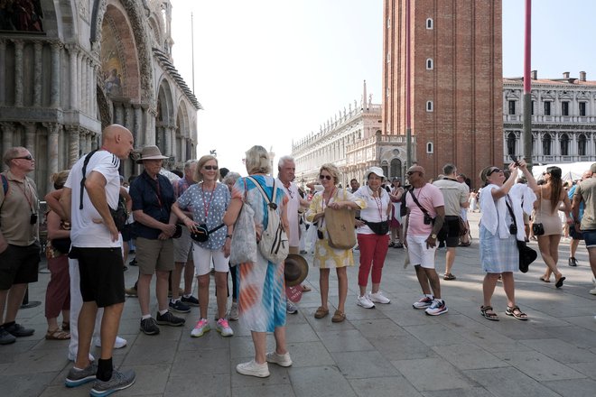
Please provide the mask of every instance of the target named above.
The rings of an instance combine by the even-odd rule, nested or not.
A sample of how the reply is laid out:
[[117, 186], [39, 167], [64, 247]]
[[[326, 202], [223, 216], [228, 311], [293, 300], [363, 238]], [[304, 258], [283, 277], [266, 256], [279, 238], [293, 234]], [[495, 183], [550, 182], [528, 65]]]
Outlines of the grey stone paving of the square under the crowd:
[[[474, 236], [479, 217], [470, 214]], [[535, 243], [530, 245], [537, 249]], [[389, 250], [381, 286], [392, 301], [377, 304], [377, 309], [356, 305], [358, 268], [349, 269], [347, 320], [340, 324], [331, 323], [331, 316], [312, 317], [320, 305], [318, 271], [312, 269], [312, 292], [303, 295], [298, 314], [287, 319], [293, 366], [270, 365], [271, 376], [265, 379], [236, 373], [235, 366], [253, 354], [250, 333], [241, 323], [231, 322], [236, 335], [220, 337], [212, 320], [214, 299], [209, 312], [213, 329], [191, 338], [198, 308], [183, 315], [185, 327], [161, 327], [159, 336], [145, 336], [138, 328], [137, 300], [127, 298], [119, 335], [126, 337], [128, 346], [116, 350], [114, 363], [135, 369], [137, 377], [135, 385], [116, 395], [593, 397], [596, 296], [588, 292], [593, 287], [587, 253], [580, 245], [576, 268], [567, 266], [568, 244], [561, 245], [560, 254], [560, 268], [567, 277], [560, 290], [554, 282], [538, 280], [545, 267], [540, 258], [529, 272], [516, 274], [517, 303], [528, 314], [527, 322], [505, 315], [507, 301], [499, 285], [493, 306], [500, 321], [480, 316], [483, 274], [476, 238], [470, 247], [458, 249], [452, 271], [457, 280], [442, 281], [449, 313], [438, 317], [412, 308], [420, 291], [414, 269], [404, 269], [403, 250]], [[444, 256], [440, 250], [440, 271]], [[40, 274], [40, 281], [31, 285], [31, 300], [43, 300], [48, 278]], [[126, 285], [135, 279], [132, 267], [126, 272]], [[337, 302], [336, 280], [332, 275], [331, 305]], [[72, 365], [66, 358], [68, 341], [43, 338], [43, 306], [21, 310], [18, 321], [36, 331], [33, 337], [0, 346], [0, 395], [88, 395], [91, 383], [64, 387]], [[274, 346], [273, 337], [267, 344]]]

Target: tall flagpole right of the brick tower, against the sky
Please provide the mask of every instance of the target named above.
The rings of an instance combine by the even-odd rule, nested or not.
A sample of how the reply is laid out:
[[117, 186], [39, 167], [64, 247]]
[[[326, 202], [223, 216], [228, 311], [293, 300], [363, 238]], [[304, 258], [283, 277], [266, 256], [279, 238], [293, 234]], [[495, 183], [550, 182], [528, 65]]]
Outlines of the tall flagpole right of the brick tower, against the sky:
[[526, 0], [524, 36], [524, 157], [528, 170], [532, 171], [532, 0]]

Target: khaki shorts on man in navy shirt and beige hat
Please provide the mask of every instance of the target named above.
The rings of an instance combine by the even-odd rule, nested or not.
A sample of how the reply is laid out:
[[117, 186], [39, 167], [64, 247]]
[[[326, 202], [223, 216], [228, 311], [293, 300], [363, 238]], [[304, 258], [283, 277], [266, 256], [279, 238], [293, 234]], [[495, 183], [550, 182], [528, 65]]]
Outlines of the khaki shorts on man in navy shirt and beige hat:
[[172, 238], [149, 240], [136, 237], [136, 263], [141, 274], [172, 271], [174, 268]]

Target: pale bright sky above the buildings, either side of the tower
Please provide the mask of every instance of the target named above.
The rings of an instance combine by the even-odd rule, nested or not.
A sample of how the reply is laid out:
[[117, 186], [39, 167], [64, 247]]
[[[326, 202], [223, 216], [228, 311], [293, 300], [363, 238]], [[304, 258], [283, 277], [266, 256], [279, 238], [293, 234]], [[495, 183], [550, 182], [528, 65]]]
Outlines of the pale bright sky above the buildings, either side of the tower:
[[[486, 1], [486, 0], [485, 0]], [[503, 1], [503, 74], [523, 75], [523, 0]], [[218, 152], [220, 166], [244, 173], [253, 144], [277, 156], [292, 140], [318, 131], [360, 101], [367, 80], [380, 103], [382, 0], [172, 0], [174, 64], [191, 81], [191, 13], [199, 155]], [[596, 79], [591, 40], [596, 2], [534, 0], [532, 69]]]

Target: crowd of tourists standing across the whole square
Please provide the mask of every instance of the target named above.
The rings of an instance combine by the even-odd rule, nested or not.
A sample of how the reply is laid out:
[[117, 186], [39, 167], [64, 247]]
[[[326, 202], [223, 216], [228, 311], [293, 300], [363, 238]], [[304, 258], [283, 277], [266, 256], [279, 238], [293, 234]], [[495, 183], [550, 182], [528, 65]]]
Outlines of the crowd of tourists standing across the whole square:
[[[390, 248], [404, 248], [414, 267], [421, 297], [413, 308], [430, 316], [447, 313], [441, 282], [457, 279], [457, 250], [471, 244], [469, 211], [481, 213], [479, 261], [485, 276], [480, 314], [485, 319], [498, 320], [491, 302], [498, 282], [507, 296], [505, 314], [529, 318], [517, 305], [514, 274], [525, 271], [520, 250], [532, 239], [546, 264], [540, 279], [550, 282], [554, 275], [554, 286], [563, 287], [558, 253], [565, 225], [571, 237], [568, 264], [578, 264], [575, 253], [584, 241], [596, 275], [596, 163], [568, 187], [558, 167], [549, 167], [536, 181], [523, 160], [507, 170], [490, 166], [480, 171], [480, 189], [470, 189], [470, 179], [454, 164], [445, 164], [436, 178], [414, 165], [404, 180], [388, 180], [383, 169], [370, 167], [362, 180], [350, 180], [348, 189], [340, 184], [339, 169], [327, 163], [321, 165], [318, 180], [307, 185], [311, 190], [305, 191], [293, 182], [295, 163], [290, 156], [279, 160], [278, 177], [270, 176], [269, 154], [262, 146], [246, 152], [247, 178], [220, 169], [216, 157], [205, 155], [186, 162], [182, 178], [172, 182], [163, 175], [167, 157], [150, 145], [137, 152], [143, 172], [126, 187], [119, 175], [120, 161], [133, 151], [130, 131], [108, 126], [98, 151], [53, 176], [46, 214], [39, 214], [39, 192], [27, 176], [35, 168], [32, 153], [14, 147], [4, 155], [8, 170], [2, 173], [0, 189], [0, 345], [33, 335], [34, 330], [16, 318], [27, 285], [37, 282], [38, 217], [45, 217], [44, 254], [51, 272], [45, 338], [70, 339], [68, 356], [74, 365], [65, 384], [94, 382], [91, 395], [107, 395], [135, 383], [135, 372], [116, 370], [112, 359], [114, 348], [126, 346], [117, 336], [125, 291], [138, 297], [139, 328], [145, 335], [159, 334], [160, 326], [183, 326], [186, 319], [173, 312], [185, 314], [199, 307], [191, 337], [202, 337], [210, 331], [213, 274], [215, 328], [222, 337], [232, 337], [229, 321], [240, 319], [251, 331], [254, 357], [238, 364], [237, 372], [266, 377], [269, 364], [293, 364], [286, 344], [286, 314], [299, 308], [286, 297], [287, 254], [312, 252], [321, 295], [314, 318], [322, 320], [332, 312], [333, 323], [347, 318], [347, 268], [355, 265], [357, 251], [354, 304], [372, 309], [391, 302], [381, 291]], [[446, 249], [442, 277], [436, 266], [440, 247]], [[123, 254], [129, 249], [135, 252], [131, 264], [137, 266], [138, 281], [125, 289]], [[337, 302], [329, 300], [331, 269], [337, 277]], [[157, 309], [152, 313], [154, 275]], [[198, 298], [192, 296], [195, 278]], [[300, 293], [307, 291], [309, 285], [299, 285]], [[596, 288], [590, 292], [596, 294]], [[267, 333], [275, 336], [270, 352]], [[92, 344], [101, 347], [98, 360], [90, 354]]]

